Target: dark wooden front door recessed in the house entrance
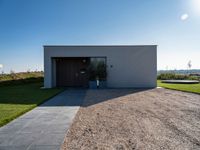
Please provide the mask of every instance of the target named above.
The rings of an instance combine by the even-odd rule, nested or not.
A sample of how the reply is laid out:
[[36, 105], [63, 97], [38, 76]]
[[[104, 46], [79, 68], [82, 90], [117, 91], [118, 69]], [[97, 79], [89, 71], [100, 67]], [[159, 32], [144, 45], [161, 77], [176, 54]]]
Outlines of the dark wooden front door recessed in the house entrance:
[[58, 58], [56, 82], [59, 87], [88, 87], [87, 58]]

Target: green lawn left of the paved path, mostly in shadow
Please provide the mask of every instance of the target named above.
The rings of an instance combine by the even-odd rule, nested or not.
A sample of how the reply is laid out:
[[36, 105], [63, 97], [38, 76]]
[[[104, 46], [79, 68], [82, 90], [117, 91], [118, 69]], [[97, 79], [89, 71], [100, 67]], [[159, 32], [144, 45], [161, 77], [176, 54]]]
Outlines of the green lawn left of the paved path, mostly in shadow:
[[62, 91], [41, 86], [42, 82], [0, 86], [0, 126]]

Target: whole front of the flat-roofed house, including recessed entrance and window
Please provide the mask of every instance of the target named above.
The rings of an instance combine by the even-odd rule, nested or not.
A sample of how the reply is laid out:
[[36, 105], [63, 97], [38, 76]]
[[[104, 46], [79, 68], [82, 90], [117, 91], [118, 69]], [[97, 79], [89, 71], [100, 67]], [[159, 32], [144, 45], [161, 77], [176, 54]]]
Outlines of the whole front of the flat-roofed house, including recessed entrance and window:
[[44, 46], [45, 88], [90, 87], [94, 80], [108, 88], [154, 88], [156, 76], [156, 45]]

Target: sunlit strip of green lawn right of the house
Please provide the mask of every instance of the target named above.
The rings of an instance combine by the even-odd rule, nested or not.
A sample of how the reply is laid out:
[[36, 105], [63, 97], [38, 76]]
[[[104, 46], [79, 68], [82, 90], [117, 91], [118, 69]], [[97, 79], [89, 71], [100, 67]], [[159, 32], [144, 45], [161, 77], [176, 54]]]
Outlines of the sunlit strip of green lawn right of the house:
[[200, 84], [168, 84], [157, 81], [159, 87], [200, 94]]

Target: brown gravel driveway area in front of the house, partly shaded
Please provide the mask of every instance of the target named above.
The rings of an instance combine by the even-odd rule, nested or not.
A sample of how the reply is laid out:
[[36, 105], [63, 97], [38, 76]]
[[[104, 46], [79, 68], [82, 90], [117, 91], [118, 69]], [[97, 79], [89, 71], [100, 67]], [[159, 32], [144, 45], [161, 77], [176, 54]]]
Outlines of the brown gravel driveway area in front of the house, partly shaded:
[[200, 149], [200, 95], [88, 90], [62, 149]]

